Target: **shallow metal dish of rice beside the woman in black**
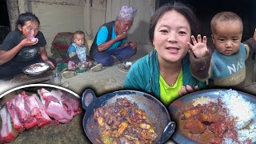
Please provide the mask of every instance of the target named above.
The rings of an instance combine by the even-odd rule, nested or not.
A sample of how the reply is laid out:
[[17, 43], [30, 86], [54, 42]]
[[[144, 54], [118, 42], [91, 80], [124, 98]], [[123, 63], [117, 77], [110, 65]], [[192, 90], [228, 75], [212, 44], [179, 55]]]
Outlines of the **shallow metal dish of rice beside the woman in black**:
[[[34, 67], [33, 69], [35, 69], [35, 70], [31, 70], [32, 67]], [[43, 67], [43, 69], [36, 70], [37, 68], [40, 68], [40, 67]], [[31, 75], [31, 76], [38, 76], [38, 75], [46, 73], [47, 70], [50, 70], [50, 67], [51, 67], [50, 64], [47, 62], [38, 62], [38, 63], [34, 63], [30, 66], [25, 66], [22, 69], [22, 72], [25, 74]]]

